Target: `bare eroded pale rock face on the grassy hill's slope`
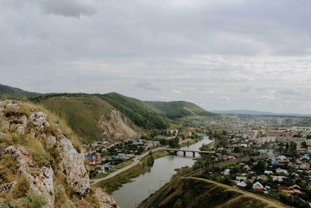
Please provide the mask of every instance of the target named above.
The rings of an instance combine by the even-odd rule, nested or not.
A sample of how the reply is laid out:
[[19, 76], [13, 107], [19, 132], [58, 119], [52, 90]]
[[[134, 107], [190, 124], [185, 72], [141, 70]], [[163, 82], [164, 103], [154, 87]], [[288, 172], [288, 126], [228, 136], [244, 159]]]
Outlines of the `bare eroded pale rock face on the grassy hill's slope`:
[[97, 122], [98, 127], [110, 138], [128, 138], [140, 135], [134, 122], [117, 110], [112, 110], [110, 115], [103, 115]]

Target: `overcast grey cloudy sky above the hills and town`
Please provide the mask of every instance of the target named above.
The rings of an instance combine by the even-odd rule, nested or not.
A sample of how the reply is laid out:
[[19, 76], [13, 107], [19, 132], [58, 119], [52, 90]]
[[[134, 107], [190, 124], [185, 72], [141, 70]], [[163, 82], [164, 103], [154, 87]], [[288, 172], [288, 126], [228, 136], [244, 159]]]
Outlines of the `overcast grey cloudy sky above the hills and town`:
[[0, 0], [0, 84], [311, 114], [311, 1]]

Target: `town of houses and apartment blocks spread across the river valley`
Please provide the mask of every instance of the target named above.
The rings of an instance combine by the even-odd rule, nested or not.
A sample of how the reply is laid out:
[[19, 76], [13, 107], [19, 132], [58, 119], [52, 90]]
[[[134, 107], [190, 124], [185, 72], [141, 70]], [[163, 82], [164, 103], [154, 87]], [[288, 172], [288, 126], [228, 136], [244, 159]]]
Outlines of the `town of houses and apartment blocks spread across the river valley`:
[[[247, 191], [265, 193], [271, 197], [277, 195], [288, 205], [291, 194], [296, 197], [293, 197], [293, 204], [300, 203], [299, 207], [307, 204], [311, 196], [311, 129], [290, 125], [297, 123], [299, 118], [228, 118], [222, 118], [222, 121], [184, 121], [179, 123], [179, 127], [183, 128], [161, 131], [162, 135], [152, 132], [119, 142], [108, 142], [108, 139], [103, 138], [86, 145], [84, 149], [90, 165], [90, 178], [105, 177], [124, 167], [126, 163], [133, 163], [133, 158], [154, 148], [179, 148], [183, 142], [187, 144], [189, 141], [201, 139], [198, 135], [204, 133], [214, 142], [203, 144], [200, 150], [214, 153], [202, 154], [197, 158], [193, 170], [208, 167], [198, 177]], [[243, 129], [243, 123], [245, 126], [253, 126], [253, 129]], [[213, 129], [220, 124], [223, 129]], [[188, 131], [180, 131], [186, 129], [185, 126]], [[267, 128], [258, 129], [255, 126]], [[261, 157], [257, 158], [258, 156]], [[236, 160], [239, 162], [230, 163]], [[219, 163], [224, 165], [213, 167]]]

